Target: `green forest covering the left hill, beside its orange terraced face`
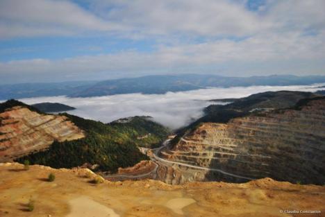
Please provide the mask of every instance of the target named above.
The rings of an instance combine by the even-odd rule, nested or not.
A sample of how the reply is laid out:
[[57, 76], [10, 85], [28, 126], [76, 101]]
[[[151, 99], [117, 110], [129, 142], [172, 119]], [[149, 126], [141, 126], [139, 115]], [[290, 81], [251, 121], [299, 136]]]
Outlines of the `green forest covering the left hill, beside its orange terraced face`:
[[[155, 146], [165, 139], [168, 130], [149, 121], [147, 117], [134, 117], [126, 123], [104, 124], [64, 114], [86, 137], [73, 141], [54, 141], [48, 150], [17, 159], [31, 164], [42, 164], [53, 168], [72, 168], [85, 163], [98, 164], [97, 170], [116, 172], [119, 167], [133, 166], [148, 159], [137, 146]], [[150, 135], [149, 135], [150, 134]], [[138, 139], [149, 135], [147, 138]]]

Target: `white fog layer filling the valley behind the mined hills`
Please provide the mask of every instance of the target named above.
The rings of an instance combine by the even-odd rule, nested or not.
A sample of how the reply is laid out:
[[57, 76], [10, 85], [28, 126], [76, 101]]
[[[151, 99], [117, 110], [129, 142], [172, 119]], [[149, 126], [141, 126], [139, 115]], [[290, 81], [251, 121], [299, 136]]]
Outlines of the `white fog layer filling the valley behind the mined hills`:
[[[203, 115], [203, 108], [213, 104], [217, 98], [240, 98], [258, 92], [292, 90], [315, 92], [318, 85], [310, 86], [251, 86], [199, 89], [189, 92], [168, 92], [167, 94], [120, 94], [91, 98], [67, 98], [65, 96], [24, 98], [24, 103], [41, 102], [64, 103], [76, 107], [70, 114], [108, 123], [128, 116], [152, 116], [169, 128], [187, 125]], [[324, 88], [323, 88], [324, 89]]]

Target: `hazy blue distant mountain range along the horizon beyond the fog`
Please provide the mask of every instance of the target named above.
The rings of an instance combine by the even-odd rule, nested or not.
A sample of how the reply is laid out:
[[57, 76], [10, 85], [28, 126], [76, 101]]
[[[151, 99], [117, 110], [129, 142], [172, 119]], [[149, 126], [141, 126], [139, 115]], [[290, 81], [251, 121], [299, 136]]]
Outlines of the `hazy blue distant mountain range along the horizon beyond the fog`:
[[207, 87], [248, 87], [252, 85], [310, 85], [325, 83], [325, 76], [251, 76], [226, 77], [183, 74], [177, 76], [143, 76], [115, 80], [65, 83], [28, 83], [0, 85], [0, 99], [38, 96], [91, 97], [114, 94], [165, 94]]

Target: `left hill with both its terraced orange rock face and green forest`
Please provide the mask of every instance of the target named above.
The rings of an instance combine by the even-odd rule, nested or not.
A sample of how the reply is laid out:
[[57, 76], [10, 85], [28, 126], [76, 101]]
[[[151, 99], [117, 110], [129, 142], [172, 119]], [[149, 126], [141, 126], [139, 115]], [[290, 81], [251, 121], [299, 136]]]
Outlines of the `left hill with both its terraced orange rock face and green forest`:
[[0, 162], [28, 159], [55, 168], [90, 164], [114, 172], [147, 159], [138, 146], [155, 146], [168, 134], [144, 117], [105, 124], [67, 113], [44, 114], [14, 100], [1, 103], [0, 111]]

